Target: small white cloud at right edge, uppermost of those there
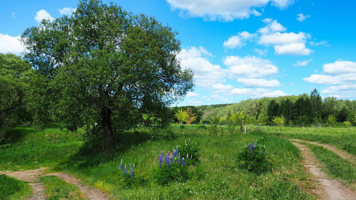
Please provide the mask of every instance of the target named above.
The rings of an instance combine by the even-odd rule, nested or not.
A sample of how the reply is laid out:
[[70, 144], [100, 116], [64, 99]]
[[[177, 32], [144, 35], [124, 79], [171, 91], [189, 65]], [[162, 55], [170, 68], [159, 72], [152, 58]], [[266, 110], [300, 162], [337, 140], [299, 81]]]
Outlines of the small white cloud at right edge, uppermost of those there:
[[356, 73], [356, 62], [335, 61], [323, 65], [324, 72], [328, 74]]

